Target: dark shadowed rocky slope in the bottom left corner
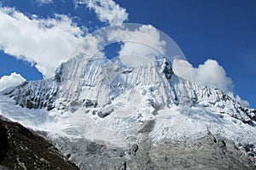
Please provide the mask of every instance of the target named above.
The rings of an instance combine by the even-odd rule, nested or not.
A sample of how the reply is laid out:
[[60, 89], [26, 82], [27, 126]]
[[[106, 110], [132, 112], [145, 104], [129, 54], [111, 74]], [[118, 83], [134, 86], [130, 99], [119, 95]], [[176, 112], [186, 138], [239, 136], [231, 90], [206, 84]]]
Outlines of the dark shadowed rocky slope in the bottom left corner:
[[44, 138], [1, 119], [0, 153], [0, 169], [78, 169]]

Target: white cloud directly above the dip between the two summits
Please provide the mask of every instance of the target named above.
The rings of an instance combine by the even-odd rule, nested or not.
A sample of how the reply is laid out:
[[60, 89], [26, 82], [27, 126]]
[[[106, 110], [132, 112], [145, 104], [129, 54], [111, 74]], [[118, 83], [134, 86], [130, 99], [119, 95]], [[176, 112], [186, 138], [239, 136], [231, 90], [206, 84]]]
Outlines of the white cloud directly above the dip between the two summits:
[[[165, 54], [166, 42], [160, 39], [160, 32], [153, 26], [143, 25], [135, 30], [116, 29], [108, 34], [110, 42], [123, 42], [119, 51], [122, 63], [138, 66]], [[133, 64], [132, 64], [132, 61]], [[132, 64], [132, 65], [131, 65]]]

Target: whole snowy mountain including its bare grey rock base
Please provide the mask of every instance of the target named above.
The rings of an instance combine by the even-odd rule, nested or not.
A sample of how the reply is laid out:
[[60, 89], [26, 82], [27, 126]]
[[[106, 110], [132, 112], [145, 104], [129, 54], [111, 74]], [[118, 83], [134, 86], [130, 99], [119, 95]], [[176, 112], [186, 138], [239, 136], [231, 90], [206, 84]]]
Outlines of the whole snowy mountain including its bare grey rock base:
[[46, 132], [80, 169], [206, 169], [212, 162], [253, 169], [255, 162], [256, 111], [177, 77], [166, 59], [125, 67], [78, 54], [54, 78], [0, 95], [2, 116]]

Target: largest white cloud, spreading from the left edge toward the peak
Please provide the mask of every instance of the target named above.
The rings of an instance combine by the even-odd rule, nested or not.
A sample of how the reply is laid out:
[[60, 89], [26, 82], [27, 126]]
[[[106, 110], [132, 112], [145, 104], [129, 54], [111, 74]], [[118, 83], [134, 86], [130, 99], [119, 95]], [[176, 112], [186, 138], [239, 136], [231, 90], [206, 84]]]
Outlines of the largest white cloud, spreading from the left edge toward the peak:
[[0, 20], [0, 49], [34, 64], [44, 77], [54, 75], [55, 68], [70, 57], [84, 35], [83, 29], [62, 14], [41, 19], [0, 7]]

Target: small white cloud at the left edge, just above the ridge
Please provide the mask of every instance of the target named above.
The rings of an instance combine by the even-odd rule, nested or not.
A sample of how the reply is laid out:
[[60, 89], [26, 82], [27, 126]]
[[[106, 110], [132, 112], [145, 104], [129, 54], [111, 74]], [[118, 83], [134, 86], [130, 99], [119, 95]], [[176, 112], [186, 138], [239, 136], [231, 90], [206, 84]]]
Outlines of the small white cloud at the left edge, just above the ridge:
[[20, 74], [13, 72], [9, 76], [3, 76], [0, 78], [0, 90], [3, 90], [4, 88], [17, 86], [25, 81], [26, 79], [21, 77]]

